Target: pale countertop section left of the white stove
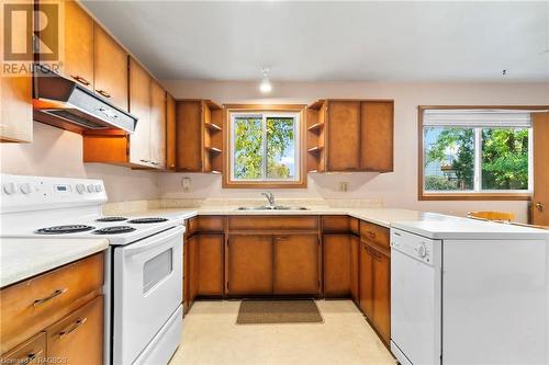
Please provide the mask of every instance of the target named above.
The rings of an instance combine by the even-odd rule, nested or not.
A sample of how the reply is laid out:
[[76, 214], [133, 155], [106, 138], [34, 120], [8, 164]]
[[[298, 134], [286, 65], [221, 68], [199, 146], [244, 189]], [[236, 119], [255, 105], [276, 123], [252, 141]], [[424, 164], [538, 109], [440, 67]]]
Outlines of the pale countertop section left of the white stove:
[[2, 238], [0, 288], [83, 259], [108, 247], [107, 239]]

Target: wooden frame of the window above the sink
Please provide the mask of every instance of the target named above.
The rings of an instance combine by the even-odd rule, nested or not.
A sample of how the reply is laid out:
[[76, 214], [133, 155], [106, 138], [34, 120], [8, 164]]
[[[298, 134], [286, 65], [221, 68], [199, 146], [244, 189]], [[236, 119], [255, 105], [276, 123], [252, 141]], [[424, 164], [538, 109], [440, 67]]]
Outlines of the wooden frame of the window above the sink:
[[[227, 153], [225, 157], [225, 171], [223, 178], [223, 187], [228, 189], [305, 189], [307, 183], [306, 156], [305, 156], [305, 107], [303, 104], [226, 104], [224, 116], [225, 144]], [[265, 114], [267, 116], [296, 115], [298, 126], [295, 134], [295, 172], [299, 178], [295, 180], [237, 180], [234, 179], [234, 146], [233, 146], [233, 118], [238, 114]], [[270, 115], [269, 115], [270, 114]], [[265, 132], [264, 132], [265, 133]]]

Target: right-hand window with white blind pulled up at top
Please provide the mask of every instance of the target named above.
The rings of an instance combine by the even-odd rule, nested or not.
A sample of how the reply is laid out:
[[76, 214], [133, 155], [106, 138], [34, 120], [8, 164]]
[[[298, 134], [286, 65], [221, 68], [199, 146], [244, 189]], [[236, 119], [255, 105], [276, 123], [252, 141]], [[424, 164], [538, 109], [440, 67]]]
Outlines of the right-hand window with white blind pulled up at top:
[[530, 113], [421, 107], [419, 198], [528, 198]]

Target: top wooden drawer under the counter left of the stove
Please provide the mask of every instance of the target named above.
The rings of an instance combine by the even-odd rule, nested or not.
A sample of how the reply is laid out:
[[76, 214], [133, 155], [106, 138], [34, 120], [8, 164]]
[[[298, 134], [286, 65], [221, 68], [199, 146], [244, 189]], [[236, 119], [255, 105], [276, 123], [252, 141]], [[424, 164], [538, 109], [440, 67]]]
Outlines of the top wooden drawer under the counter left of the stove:
[[0, 353], [82, 306], [103, 285], [103, 253], [0, 292]]

